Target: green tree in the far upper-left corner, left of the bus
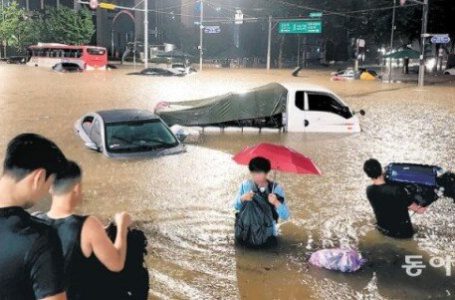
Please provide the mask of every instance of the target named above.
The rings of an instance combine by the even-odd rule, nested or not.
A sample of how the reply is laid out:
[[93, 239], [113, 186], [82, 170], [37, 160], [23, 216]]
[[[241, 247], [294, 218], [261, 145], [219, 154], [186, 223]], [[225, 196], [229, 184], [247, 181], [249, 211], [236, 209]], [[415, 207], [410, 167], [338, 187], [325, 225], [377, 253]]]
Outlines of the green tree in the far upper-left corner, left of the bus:
[[0, 22], [2, 43], [5, 46], [15, 47], [19, 53], [24, 51], [25, 46], [35, 43], [38, 39], [39, 32], [35, 21], [16, 1], [4, 7]]

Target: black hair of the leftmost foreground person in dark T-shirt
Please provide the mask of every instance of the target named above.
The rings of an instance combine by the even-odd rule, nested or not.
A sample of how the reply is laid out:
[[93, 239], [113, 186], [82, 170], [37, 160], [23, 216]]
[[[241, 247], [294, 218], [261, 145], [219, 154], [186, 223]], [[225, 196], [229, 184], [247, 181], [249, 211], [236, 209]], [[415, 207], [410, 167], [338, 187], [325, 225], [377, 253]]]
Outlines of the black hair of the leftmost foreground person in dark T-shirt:
[[44, 169], [47, 179], [65, 163], [65, 155], [54, 142], [35, 133], [23, 133], [8, 143], [3, 174], [19, 181], [37, 169]]

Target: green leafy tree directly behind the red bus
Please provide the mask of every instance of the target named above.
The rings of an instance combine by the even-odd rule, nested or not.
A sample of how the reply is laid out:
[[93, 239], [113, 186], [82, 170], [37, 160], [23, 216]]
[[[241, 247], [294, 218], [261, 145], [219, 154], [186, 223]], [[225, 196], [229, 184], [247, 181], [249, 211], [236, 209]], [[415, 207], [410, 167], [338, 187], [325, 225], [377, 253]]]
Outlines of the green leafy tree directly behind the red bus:
[[39, 27], [43, 42], [87, 44], [95, 33], [91, 12], [86, 8], [79, 11], [66, 6], [47, 8]]

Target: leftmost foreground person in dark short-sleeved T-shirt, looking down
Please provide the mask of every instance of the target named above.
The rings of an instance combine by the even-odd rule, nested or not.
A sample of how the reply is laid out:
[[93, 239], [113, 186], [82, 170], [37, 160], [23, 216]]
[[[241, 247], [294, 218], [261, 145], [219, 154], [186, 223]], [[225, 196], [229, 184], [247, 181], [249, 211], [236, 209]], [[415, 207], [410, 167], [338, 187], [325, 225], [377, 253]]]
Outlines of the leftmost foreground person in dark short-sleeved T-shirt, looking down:
[[0, 177], [0, 299], [65, 300], [55, 231], [25, 209], [48, 194], [66, 158], [50, 140], [26, 133], [6, 149]]

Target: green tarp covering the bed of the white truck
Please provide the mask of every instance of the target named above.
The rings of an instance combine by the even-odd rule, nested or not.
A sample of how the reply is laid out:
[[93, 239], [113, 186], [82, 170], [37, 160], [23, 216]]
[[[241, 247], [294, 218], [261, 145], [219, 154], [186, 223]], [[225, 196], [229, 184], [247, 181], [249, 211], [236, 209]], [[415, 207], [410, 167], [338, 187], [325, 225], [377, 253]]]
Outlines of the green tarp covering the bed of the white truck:
[[270, 83], [245, 93], [228, 93], [201, 100], [169, 103], [156, 110], [169, 126], [220, 125], [226, 122], [267, 118], [286, 111], [287, 89]]

